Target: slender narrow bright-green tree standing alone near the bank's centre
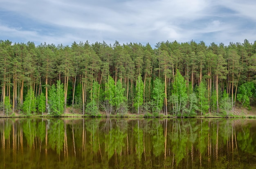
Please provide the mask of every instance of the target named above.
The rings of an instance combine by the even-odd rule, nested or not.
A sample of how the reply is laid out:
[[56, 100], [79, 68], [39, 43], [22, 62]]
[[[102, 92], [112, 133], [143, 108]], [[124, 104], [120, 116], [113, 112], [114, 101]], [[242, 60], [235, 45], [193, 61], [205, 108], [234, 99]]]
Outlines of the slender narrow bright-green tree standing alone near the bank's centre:
[[137, 110], [137, 113], [139, 114], [139, 109], [143, 105], [143, 90], [144, 90], [144, 84], [141, 78], [141, 75], [137, 77], [136, 80], [136, 95], [134, 98], [134, 108]]

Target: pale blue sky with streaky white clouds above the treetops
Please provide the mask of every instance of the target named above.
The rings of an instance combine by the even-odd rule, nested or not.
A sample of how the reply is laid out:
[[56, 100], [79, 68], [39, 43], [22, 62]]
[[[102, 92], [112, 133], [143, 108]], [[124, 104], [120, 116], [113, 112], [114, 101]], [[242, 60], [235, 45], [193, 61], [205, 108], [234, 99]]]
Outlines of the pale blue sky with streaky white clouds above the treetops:
[[0, 0], [0, 40], [72, 45], [256, 40], [255, 0]]

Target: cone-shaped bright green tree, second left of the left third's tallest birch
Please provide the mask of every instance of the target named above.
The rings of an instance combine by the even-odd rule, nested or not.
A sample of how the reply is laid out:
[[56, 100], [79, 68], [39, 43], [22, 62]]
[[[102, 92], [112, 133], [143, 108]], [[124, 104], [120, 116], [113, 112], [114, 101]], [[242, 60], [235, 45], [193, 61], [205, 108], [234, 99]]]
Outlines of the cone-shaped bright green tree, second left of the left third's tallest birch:
[[25, 101], [23, 102], [22, 110], [27, 115], [36, 112], [36, 98], [34, 96], [33, 88], [28, 90]]

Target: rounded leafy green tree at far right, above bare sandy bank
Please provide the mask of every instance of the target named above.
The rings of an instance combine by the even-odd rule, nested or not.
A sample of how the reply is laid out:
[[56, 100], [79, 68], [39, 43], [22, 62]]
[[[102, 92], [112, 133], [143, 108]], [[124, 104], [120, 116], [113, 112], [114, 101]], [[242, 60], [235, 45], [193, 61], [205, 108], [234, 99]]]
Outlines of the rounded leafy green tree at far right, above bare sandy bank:
[[243, 83], [238, 90], [237, 100], [242, 102], [245, 107], [250, 106], [250, 100], [254, 97], [255, 85], [253, 82]]

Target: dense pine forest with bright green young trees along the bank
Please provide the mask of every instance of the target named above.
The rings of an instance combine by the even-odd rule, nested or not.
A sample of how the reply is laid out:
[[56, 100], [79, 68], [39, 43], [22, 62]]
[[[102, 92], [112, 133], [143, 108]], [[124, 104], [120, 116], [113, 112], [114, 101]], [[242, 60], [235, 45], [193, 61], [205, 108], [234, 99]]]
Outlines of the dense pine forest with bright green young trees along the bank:
[[229, 116], [238, 105], [255, 104], [256, 41], [167, 41], [152, 47], [1, 40], [0, 63], [4, 115], [60, 115], [69, 108], [92, 116]]

